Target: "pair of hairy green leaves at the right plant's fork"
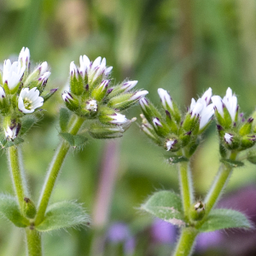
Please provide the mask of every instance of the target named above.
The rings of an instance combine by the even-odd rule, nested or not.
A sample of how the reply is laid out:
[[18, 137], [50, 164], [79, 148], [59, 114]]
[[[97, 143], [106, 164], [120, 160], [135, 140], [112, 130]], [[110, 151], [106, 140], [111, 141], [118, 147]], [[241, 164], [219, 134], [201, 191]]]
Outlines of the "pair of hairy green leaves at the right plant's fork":
[[[148, 198], [142, 207], [157, 218], [177, 226], [185, 226], [182, 201], [179, 195], [172, 191], [159, 191]], [[200, 232], [210, 232], [230, 228], [250, 229], [252, 224], [241, 212], [229, 209], [215, 209], [210, 212], [203, 224], [198, 228]]]

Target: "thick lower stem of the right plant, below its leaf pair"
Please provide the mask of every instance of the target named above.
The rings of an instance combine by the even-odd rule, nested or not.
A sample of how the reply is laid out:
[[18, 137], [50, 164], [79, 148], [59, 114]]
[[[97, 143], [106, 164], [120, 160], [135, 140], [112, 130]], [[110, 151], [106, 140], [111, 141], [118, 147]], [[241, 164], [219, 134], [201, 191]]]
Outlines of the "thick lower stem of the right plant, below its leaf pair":
[[173, 256], [191, 255], [197, 234], [198, 231], [194, 228], [183, 228]]

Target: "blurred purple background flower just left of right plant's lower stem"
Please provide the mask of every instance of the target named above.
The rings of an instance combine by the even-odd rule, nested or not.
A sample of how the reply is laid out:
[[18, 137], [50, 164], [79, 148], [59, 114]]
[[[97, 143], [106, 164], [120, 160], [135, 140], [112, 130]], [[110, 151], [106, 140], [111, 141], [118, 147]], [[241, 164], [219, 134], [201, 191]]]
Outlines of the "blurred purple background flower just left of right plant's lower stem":
[[151, 227], [151, 236], [155, 242], [174, 243], [176, 241], [176, 228], [160, 218], [155, 218]]

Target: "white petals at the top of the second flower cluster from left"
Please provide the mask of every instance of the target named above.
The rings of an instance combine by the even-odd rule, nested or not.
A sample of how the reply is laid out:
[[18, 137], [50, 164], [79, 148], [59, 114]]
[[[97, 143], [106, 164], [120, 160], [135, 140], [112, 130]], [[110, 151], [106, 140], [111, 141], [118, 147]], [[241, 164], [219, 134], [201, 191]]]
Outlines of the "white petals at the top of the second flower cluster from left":
[[108, 78], [108, 74], [113, 68], [106, 67], [106, 59], [102, 59], [102, 57], [97, 57], [96, 60], [92, 62], [86, 55], [81, 55], [79, 61], [79, 73], [81, 74], [83, 79], [87, 75], [90, 82], [95, 81], [101, 75], [102, 79]]

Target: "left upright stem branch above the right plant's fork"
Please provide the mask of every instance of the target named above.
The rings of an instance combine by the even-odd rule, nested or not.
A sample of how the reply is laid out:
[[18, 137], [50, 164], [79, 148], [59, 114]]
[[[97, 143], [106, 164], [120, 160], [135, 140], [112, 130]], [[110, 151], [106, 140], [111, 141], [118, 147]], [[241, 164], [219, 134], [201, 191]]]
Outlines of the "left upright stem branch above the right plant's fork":
[[179, 183], [183, 200], [183, 210], [185, 216], [189, 216], [189, 208], [194, 201], [192, 177], [189, 167], [189, 161], [179, 163]]

